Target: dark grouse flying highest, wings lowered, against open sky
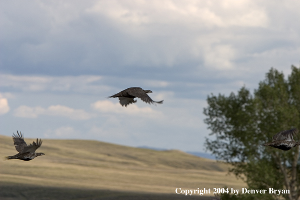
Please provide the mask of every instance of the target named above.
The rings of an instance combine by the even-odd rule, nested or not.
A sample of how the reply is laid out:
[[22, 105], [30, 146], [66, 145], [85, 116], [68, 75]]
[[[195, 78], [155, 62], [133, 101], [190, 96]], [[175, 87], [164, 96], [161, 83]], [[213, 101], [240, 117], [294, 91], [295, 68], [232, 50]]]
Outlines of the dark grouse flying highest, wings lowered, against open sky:
[[120, 91], [117, 94], [114, 94], [112, 96], [109, 96], [108, 98], [116, 98], [119, 97], [120, 104], [122, 106], [127, 107], [129, 104], [136, 103], [136, 100], [133, 100], [133, 98], [138, 97], [140, 98], [143, 102], [148, 103], [148, 104], [162, 104], [163, 101], [160, 102], [155, 102], [153, 101], [147, 93], [152, 93], [151, 90], [143, 90], [140, 87], [129, 87], [127, 89], [124, 89], [123, 91]]

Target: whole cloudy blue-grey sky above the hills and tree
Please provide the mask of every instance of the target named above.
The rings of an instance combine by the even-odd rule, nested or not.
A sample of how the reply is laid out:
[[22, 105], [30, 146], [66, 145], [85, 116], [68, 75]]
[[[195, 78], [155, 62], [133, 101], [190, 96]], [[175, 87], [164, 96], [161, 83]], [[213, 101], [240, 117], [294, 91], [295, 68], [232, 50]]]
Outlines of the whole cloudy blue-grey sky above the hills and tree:
[[[210, 93], [300, 61], [299, 1], [1, 1], [0, 134], [204, 152]], [[128, 87], [155, 101], [122, 107]]]

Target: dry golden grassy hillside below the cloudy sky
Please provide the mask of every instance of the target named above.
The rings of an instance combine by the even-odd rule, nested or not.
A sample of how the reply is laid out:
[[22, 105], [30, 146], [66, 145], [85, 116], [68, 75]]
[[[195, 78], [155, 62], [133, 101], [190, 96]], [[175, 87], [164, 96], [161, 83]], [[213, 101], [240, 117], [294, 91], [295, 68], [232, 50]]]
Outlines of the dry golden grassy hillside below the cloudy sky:
[[[25, 141], [29, 144], [33, 139], [25, 138]], [[17, 152], [12, 137], [0, 135], [0, 152], [3, 158], [0, 159], [0, 187], [27, 185], [65, 188], [68, 191], [80, 188], [110, 190], [122, 195], [129, 192], [128, 195], [131, 195], [132, 192], [176, 194], [177, 187], [213, 189], [224, 185], [233, 188], [245, 186], [233, 175], [227, 175], [226, 164], [176, 150], [154, 151], [90, 140], [43, 139], [37, 152], [45, 156], [29, 162], [4, 161], [5, 156], [13, 156]], [[199, 199], [198, 195], [193, 196]]]

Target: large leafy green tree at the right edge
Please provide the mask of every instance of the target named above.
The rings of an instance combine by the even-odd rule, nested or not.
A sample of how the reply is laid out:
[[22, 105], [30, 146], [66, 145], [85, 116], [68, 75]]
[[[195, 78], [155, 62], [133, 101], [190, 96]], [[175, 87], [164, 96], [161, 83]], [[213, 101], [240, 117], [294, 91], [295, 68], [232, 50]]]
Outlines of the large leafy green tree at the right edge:
[[[271, 69], [254, 94], [242, 87], [229, 96], [211, 94], [205, 123], [216, 139], [205, 146], [232, 165], [248, 189], [289, 189], [289, 194], [223, 195], [222, 199], [300, 199], [299, 146], [282, 151], [260, 146], [279, 131], [300, 128], [300, 69], [292, 66], [288, 79]], [[299, 137], [298, 137], [299, 138]]]

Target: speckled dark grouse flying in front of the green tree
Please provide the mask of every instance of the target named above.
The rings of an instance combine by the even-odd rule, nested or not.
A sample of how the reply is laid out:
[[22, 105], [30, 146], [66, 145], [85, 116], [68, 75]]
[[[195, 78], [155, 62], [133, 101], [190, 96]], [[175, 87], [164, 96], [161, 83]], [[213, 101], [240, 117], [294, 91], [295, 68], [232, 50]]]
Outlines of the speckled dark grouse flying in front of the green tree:
[[262, 146], [273, 146], [283, 151], [288, 151], [292, 147], [300, 145], [300, 142], [295, 142], [295, 140], [293, 139], [293, 135], [295, 135], [296, 133], [298, 133], [298, 130], [296, 128], [280, 131], [273, 136], [272, 142], [265, 143]]

